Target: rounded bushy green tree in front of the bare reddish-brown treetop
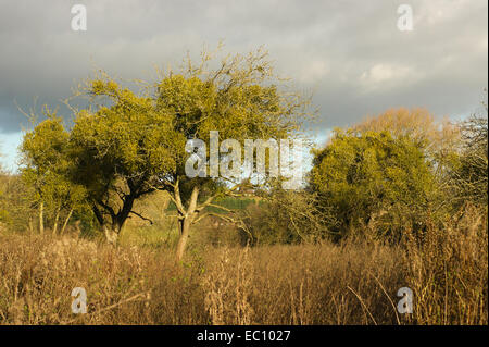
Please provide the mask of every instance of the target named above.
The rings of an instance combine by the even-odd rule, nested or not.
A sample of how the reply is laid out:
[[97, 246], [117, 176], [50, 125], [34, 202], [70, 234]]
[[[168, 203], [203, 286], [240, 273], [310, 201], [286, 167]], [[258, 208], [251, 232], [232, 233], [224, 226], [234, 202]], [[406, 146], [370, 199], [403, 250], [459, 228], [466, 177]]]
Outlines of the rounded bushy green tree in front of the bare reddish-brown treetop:
[[337, 233], [383, 218], [378, 231], [399, 236], [428, 208], [435, 177], [423, 144], [389, 132], [359, 133], [336, 129], [331, 141], [315, 151], [312, 190], [340, 221]]

